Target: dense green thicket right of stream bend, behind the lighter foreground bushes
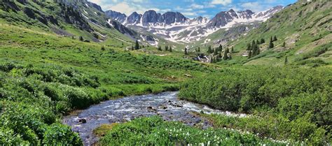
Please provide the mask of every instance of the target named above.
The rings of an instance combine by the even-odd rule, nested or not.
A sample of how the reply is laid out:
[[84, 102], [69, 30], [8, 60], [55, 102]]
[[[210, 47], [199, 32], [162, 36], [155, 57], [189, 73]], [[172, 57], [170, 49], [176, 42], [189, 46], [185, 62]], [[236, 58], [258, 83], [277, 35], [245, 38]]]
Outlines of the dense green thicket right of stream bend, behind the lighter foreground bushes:
[[263, 105], [274, 108], [280, 98], [321, 92], [331, 88], [330, 80], [331, 71], [325, 69], [229, 70], [184, 82], [179, 97], [221, 110], [249, 112]]

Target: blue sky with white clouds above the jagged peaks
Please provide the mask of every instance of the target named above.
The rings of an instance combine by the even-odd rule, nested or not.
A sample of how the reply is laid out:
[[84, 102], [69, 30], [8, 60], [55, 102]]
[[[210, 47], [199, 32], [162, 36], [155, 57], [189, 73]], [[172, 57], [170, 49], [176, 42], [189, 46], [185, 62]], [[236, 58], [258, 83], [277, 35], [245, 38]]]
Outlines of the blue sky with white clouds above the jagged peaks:
[[143, 14], [146, 10], [158, 13], [177, 11], [186, 17], [211, 18], [224, 10], [253, 10], [259, 12], [272, 6], [286, 6], [296, 0], [89, 0], [102, 6], [103, 10], [116, 10], [126, 15]]

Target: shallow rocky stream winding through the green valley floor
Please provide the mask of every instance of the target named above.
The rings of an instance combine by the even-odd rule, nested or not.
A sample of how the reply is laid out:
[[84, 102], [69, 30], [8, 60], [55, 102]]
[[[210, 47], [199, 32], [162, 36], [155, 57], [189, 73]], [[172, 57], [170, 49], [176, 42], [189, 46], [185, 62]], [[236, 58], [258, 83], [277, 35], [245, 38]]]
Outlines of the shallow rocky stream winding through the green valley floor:
[[188, 101], [180, 101], [177, 99], [177, 92], [165, 92], [104, 101], [78, 112], [77, 115], [64, 117], [63, 123], [71, 126], [73, 131], [78, 132], [85, 145], [92, 145], [98, 140], [92, 133], [93, 129], [102, 124], [127, 122], [137, 117], [160, 115], [167, 121], [184, 122], [190, 126], [200, 126], [203, 129], [211, 126], [207, 120], [198, 117], [194, 112], [245, 116], [213, 110], [205, 105]]

